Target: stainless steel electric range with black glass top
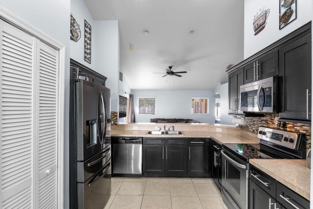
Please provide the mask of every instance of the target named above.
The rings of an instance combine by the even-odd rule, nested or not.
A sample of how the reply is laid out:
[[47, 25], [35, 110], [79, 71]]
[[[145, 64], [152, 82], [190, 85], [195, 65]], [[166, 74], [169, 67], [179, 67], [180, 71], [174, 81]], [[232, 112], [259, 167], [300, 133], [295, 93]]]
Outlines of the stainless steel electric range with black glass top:
[[305, 135], [260, 127], [259, 144], [223, 144], [222, 193], [230, 209], [247, 209], [249, 159], [305, 159]]

